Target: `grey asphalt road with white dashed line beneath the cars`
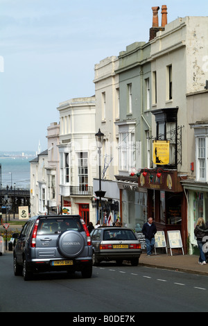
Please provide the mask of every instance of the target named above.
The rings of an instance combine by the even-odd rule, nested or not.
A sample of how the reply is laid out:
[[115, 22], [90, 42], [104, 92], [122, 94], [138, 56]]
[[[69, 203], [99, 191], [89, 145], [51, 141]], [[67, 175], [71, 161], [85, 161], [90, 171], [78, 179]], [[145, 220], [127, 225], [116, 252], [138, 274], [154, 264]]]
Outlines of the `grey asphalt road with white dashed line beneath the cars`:
[[0, 312], [207, 312], [207, 292], [207, 276], [114, 263], [94, 267], [91, 279], [46, 273], [25, 282], [13, 275], [12, 252], [0, 257]]

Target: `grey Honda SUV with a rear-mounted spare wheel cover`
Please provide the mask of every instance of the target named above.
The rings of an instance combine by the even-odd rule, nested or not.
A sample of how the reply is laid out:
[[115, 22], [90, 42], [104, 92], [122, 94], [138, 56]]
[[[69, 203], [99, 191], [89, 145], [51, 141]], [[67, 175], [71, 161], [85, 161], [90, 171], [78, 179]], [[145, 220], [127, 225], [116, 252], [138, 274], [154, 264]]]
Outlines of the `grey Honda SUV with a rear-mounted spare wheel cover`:
[[34, 216], [21, 230], [14, 252], [14, 273], [30, 280], [33, 273], [80, 271], [92, 276], [92, 243], [79, 215]]

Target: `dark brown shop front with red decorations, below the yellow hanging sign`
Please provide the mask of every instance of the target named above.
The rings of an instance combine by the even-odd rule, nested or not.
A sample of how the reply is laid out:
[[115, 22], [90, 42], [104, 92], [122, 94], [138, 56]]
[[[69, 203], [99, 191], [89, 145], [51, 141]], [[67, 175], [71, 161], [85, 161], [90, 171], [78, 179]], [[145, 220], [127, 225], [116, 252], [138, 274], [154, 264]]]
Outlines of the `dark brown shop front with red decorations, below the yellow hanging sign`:
[[179, 230], [187, 252], [187, 197], [177, 171], [142, 170], [138, 186], [147, 190], [148, 217], [153, 217], [157, 230], [164, 231], [166, 239], [167, 231]]

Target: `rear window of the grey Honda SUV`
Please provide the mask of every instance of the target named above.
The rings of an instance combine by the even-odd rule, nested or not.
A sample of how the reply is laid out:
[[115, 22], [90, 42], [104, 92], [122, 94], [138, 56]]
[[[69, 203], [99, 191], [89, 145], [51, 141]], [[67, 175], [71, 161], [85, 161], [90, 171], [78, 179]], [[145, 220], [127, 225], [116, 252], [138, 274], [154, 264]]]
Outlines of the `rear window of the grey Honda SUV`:
[[40, 218], [37, 234], [56, 234], [67, 230], [84, 231], [79, 218]]

